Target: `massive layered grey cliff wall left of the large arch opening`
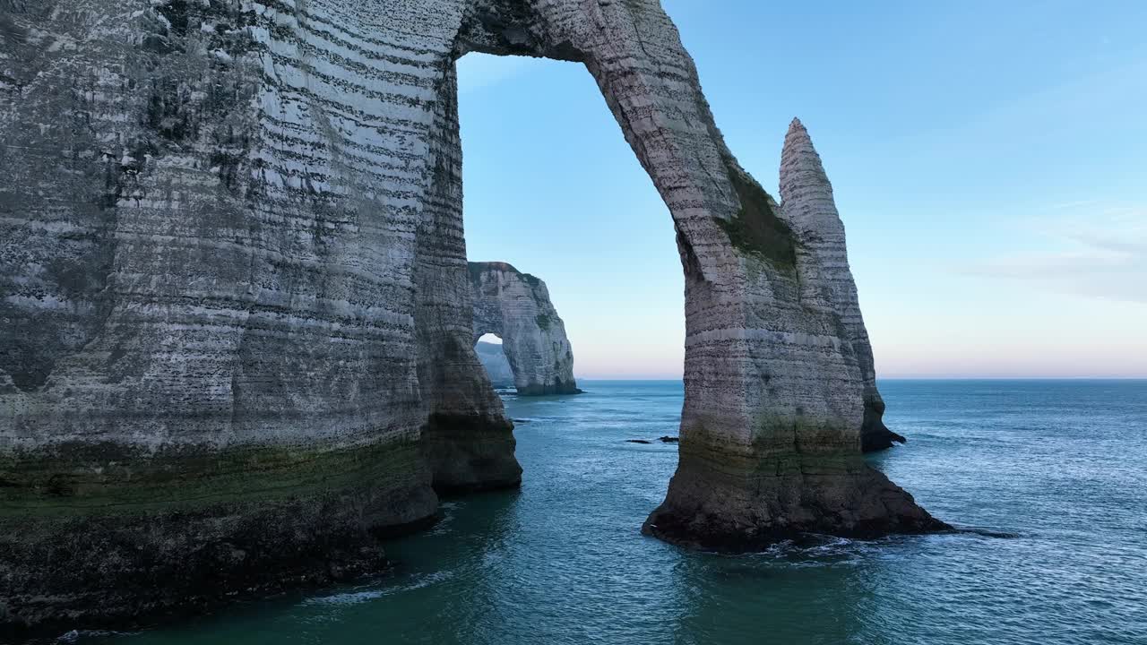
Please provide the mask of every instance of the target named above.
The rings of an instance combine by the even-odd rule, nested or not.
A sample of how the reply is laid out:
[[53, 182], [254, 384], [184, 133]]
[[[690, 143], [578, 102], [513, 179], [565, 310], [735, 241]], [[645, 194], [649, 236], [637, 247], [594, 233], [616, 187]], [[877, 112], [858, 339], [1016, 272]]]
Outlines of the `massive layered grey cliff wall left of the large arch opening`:
[[376, 572], [436, 489], [518, 483], [470, 335], [469, 10], [0, 3], [0, 623]]

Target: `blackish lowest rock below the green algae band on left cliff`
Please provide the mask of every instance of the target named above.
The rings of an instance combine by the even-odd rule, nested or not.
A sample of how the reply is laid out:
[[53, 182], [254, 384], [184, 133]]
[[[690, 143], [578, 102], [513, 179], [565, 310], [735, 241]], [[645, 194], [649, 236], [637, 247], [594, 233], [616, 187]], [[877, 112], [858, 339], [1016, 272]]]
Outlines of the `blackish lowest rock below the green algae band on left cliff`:
[[382, 573], [385, 554], [374, 527], [364, 523], [369, 497], [336, 494], [134, 516], [5, 518], [0, 634], [128, 629]]

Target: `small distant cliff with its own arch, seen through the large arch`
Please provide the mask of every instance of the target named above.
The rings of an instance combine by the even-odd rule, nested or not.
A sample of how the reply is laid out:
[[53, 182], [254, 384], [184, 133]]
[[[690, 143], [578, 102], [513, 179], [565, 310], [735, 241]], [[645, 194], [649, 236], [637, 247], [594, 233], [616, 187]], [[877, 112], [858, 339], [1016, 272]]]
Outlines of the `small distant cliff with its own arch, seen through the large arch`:
[[514, 387], [524, 396], [578, 394], [574, 350], [546, 283], [505, 262], [471, 262], [474, 339], [502, 340]]

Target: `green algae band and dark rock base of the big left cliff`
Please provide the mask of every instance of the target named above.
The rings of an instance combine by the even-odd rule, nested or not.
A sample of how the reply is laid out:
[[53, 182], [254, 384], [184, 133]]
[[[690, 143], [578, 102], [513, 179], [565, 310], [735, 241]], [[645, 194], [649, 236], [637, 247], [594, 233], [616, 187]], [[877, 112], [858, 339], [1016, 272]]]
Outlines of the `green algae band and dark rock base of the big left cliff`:
[[72, 457], [0, 461], [0, 634], [125, 629], [374, 575], [379, 538], [437, 510], [408, 442]]

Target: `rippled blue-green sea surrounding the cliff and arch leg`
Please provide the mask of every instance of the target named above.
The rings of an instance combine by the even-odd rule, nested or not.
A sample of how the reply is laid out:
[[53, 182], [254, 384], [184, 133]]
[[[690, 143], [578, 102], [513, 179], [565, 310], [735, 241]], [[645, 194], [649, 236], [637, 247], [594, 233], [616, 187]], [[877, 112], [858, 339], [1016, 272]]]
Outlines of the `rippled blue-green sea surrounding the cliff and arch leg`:
[[724, 557], [642, 537], [681, 383], [506, 397], [521, 491], [444, 504], [396, 574], [80, 643], [1147, 644], [1147, 381], [882, 381], [873, 464], [957, 535]]

